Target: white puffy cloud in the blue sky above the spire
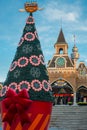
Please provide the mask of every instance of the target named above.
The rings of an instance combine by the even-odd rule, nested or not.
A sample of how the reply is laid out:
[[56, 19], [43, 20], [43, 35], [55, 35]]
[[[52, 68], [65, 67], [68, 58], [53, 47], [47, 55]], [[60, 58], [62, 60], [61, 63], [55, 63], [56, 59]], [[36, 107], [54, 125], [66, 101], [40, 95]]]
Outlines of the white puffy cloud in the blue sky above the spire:
[[63, 21], [77, 22], [80, 12], [79, 7], [75, 8], [75, 4], [59, 4], [58, 1], [50, 2], [44, 11], [47, 20], [56, 21], [61, 18]]

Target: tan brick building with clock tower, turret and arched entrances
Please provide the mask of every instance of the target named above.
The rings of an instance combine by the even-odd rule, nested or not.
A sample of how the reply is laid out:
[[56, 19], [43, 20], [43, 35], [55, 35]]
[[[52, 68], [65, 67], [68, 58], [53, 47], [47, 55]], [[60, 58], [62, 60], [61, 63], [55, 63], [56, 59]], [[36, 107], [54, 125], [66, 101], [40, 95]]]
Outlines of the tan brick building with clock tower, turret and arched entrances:
[[55, 54], [48, 62], [47, 70], [55, 96], [55, 104], [87, 103], [87, 67], [80, 62], [78, 48], [74, 44], [71, 56], [63, 30], [54, 45]]

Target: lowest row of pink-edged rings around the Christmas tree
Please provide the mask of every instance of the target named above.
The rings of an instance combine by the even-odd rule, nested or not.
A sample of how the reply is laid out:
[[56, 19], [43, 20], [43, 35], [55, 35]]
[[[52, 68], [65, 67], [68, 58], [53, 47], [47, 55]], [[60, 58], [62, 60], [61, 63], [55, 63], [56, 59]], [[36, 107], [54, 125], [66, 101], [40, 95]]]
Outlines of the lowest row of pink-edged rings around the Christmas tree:
[[52, 90], [49, 82], [47, 82], [46, 80], [43, 80], [42, 82], [40, 82], [39, 80], [35, 79], [35, 80], [32, 80], [31, 83], [29, 83], [28, 81], [21, 81], [19, 82], [19, 84], [17, 84], [16, 82], [12, 82], [8, 86], [3, 86], [1, 90], [1, 96], [4, 96], [9, 88], [13, 89], [14, 91], [16, 90], [21, 91], [23, 89], [26, 89], [27, 91], [29, 91], [31, 88], [34, 91], [38, 91], [38, 92], [41, 91], [42, 89], [45, 92]]

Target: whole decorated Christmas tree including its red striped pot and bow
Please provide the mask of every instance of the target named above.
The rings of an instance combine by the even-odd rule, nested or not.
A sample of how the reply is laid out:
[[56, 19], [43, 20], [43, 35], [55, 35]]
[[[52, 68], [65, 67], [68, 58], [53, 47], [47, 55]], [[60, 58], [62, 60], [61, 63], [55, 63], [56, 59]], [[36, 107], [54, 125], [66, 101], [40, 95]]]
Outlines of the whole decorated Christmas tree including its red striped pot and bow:
[[[30, 12], [30, 15], [26, 20], [26, 25], [24, 27], [22, 37], [20, 39], [20, 42], [18, 43], [16, 54], [10, 66], [1, 93], [1, 99], [3, 100], [2, 115], [3, 113], [7, 113], [5, 117], [2, 116], [3, 121], [5, 122], [4, 130], [7, 130], [7, 127], [9, 128], [8, 130], [16, 130], [17, 128], [18, 130], [42, 130], [42, 128], [44, 128], [44, 130], [47, 130], [50, 120], [53, 96], [51, 92], [47, 69], [44, 62], [44, 56], [35, 28], [35, 22], [32, 14], [32, 12], [34, 11], [32, 11], [32, 8], [30, 8], [33, 3], [31, 3], [31, 5], [29, 4], [30, 3], [26, 3], [27, 7], [29, 7], [29, 10], [27, 10], [26, 6], [25, 9], [27, 12]], [[15, 92], [15, 94], [13, 92], [13, 95], [15, 95], [16, 97], [17, 94], [19, 94], [19, 97], [21, 97], [20, 95], [23, 90], [26, 90], [28, 92], [29, 104], [31, 104], [31, 106], [27, 110], [27, 115], [29, 115], [29, 113], [34, 113], [31, 118], [29, 117], [31, 123], [26, 122], [28, 121], [28, 118], [26, 119], [26, 117], [23, 117], [24, 115], [22, 117], [20, 116], [21, 119], [25, 119], [23, 119], [22, 121], [19, 116], [15, 117], [15, 114], [17, 115], [17, 112], [18, 115], [21, 115], [19, 114], [20, 112], [23, 113], [18, 104], [21, 104], [22, 106], [22, 103], [24, 103], [26, 106], [26, 101], [23, 100], [22, 102], [21, 100], [21, 103], [19, 103], [19, 97], [17, 97], [17, 99], [19, 100], [18, 102], [15, 98], [12, 98], [13, 102], [11, 101], [11, 99], [7, 100], [7, 97], [11, 98], [12, 96], [12, 93], [10, 93], [11, 90]], [[11, 106], [12, 103], [14, 103], [15, 105], [13, 104], [13, 106], [9, 108], [8, 106]], [[14, 116], [12, 115], [11, 111], [15, 113]], [[40, 117], [37, 117], [36, 115], [38, 115], [39, 112], [42, 115], [39, 115]], [[34, 126], [33, 123], [35, 123], [35, 117], [38, 120], [39, 118], [41, 118], [42, 120], [43, 115], [45, 116], [45, 118], [43, 119], [42, 123]], [[11, 120], [13, 120], [13, 122]], [[43, 123], [44, 121], [45, 123]]]

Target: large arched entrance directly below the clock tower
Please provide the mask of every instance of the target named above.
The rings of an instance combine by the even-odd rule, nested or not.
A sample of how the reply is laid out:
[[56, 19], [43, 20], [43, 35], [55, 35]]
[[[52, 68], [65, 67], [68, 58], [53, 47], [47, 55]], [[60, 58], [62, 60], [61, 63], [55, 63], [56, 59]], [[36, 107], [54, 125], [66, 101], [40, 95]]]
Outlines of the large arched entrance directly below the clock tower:
[[73, 88], [67, 81], [58, 79], [51, 86], [55, 97], [54, 104], [73, 104]]

